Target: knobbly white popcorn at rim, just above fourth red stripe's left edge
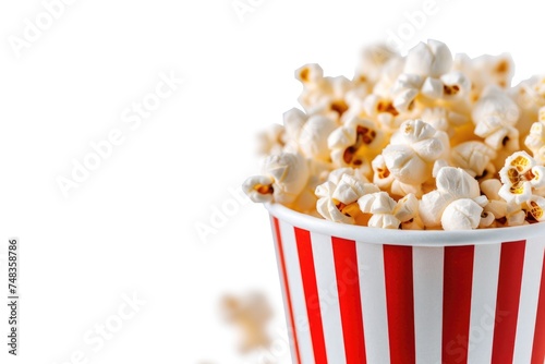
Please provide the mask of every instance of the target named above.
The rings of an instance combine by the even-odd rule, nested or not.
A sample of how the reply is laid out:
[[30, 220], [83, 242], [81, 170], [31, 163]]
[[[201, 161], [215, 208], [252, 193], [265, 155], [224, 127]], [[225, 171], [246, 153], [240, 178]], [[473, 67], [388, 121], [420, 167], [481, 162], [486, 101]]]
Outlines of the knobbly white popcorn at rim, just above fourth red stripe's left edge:
[[401, 221], [393, 216], [396, 201], [386, 192], [375, 192], [358, 199], [362, 213], [373, 214], [367, 222], [371, 228], [398, 229]]

